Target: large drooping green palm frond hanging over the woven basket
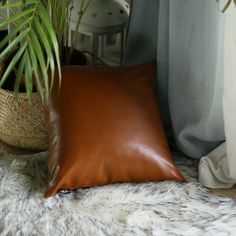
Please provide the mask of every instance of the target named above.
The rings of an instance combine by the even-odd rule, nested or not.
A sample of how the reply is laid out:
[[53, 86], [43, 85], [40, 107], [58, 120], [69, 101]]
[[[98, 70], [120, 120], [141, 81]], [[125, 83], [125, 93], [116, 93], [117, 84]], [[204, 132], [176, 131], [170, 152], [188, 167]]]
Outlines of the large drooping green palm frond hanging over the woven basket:
[[[0, 3], [3, 1], [0, 1]], [[57, 37], [52, 27], [47, 10], [41, 0], [18, 0], [12, 4], [0, 6], [0, 14], [9, 9], [12, 16], [1, 18], [0, 29], [9, 24], [13, 30], [0, 41], [0, 61], [4, 61], [11, 54], [16, 53], [9, 65], [6, 65], [0, 86], [7, 80], [8, 75], [18, 66], [15, 92], [19, 92], [20, 77], [24, 73], [26, 92], [29, 99], [32, 96], [33, 78], [42, 99], [48, 98], [50, 83], [53, 82], [57, 65], [59, 79], [60, 57]], [[6, 46], [8, 43], [8, 46]], [[3, 49], [5, 47], [5, 49]], [[48, 73], [48, 71], [51, 73]], [[49, 78], [50, 74], [50, 78]]]

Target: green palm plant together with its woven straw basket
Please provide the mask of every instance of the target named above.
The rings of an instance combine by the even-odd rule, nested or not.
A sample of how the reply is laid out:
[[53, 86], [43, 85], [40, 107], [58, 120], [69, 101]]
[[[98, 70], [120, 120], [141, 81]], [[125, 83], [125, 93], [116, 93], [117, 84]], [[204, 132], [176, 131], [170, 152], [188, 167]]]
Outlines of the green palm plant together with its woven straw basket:
[[[71, 64], [78, 57], [84, 63], [83, 55], [74, 49], [81, 19], [90, 2], [81, 0], [76, 30], [69, 41], [74, 0], [0, 0], [0, 29], [11, 28], [0, 39], [0, 87], [5, 86], [0, 94], [3, 141], [18, 147], [46, 148], [47, 129], [41, 102], [49, 96], [56, 70], [60, 79], [61, 65]], [[14, 136], [13, 131], [20, 136], [9, 137]], [[30, 141], [35, 144], [25, 145]]]

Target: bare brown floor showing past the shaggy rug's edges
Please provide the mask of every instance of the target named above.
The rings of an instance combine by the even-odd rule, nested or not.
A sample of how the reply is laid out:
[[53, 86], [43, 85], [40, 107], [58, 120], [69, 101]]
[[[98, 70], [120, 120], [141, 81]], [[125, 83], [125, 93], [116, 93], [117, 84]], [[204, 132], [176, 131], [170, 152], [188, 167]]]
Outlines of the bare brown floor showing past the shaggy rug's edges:
[[[33, 151], [30, 150], [19, 149], [16, 147], [9, 146], [6, 143], [2, 142], [1, 140], [0, 140], [0, 152], [8, 152], [19, 155], [33, 153]], [[224, 196], [236, 199], [236, 185], [232, 189], [209, 189], [209, 191], [218, 196]]]

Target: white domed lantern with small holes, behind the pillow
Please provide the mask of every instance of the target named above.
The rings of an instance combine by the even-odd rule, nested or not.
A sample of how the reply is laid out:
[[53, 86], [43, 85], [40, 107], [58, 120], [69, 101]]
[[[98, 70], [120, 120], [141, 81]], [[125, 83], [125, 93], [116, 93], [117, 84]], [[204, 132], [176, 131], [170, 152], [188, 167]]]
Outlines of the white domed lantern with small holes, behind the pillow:
[[[71, 17], [71, 31], [75, 31], [77, 21], [77, 9], [80, 9], [81, 1], [75, 5]], [[109, 57], [109, 45], [107, 39], [114, 35], [114, 45], [120, 52], [118, 61], [111, 64], [120, 64], [123, 57], [126, 30], [129, 21], [130, 6], [125, 0], [92, 0], [89, 4], [79, 27], [80, 38], [87, 36], [90, 41], [90, 51], [97, 57], [107, 61]], [[71, 36], [70, 36], [71, 37]], [[80, 43], [82, 41], [80, 40]], [[80, 45], [78, 45], [80, 48]], [[110, 57], [111, 60], [111, 57]], [[92, 58], [91, 64], [96, 59]], [[109, 64], [109, 63], [108, 63]]]

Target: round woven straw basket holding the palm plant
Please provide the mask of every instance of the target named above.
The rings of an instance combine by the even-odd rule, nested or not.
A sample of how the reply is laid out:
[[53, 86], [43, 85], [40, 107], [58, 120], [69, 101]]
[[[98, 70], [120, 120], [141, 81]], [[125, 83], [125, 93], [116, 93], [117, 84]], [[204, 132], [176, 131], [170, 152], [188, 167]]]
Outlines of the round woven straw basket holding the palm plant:
[[14, 92], [0, 89], [0, 139], [19, 148], [47, 149], [48, 131], [37, 93], [29, 103], [26, 93], [17, 101]]

